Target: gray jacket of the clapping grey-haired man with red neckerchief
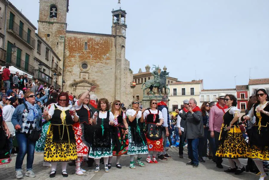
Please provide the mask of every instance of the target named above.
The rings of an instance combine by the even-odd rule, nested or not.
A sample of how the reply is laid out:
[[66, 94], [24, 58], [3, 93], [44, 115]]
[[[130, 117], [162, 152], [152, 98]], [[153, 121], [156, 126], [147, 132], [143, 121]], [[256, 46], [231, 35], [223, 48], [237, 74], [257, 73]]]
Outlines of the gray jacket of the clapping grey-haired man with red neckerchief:
[[185, 120], [184, 133], [187, 139], [196, 139], [204, 137], [204, 124], [201, 111], [196, 111], [193, 114], [187, 112], [185, 115], [179, 114]]

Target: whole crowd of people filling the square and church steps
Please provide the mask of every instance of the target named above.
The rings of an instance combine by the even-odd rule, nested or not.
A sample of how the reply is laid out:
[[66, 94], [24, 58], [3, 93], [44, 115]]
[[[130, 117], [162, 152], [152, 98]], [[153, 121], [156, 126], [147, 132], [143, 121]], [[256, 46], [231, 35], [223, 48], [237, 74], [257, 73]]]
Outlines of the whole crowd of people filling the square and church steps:
[[[57, 162], [61, 162], [63, 177], [68, 177], [68, 161], [75, 166], [78, 176], [86, 172], [81, 167], [85, 160], [89, 167], [95, 162], [95, 173], [100, 171], [100, 163], [108, 173], [116, 156], [115, 167], [121, 169], [123, 154], [130, 156], [131, 169], [145, 166], [143, 154], [147, 163], [158, 164], [159, 160], [171, 158], [166, 147], [167, 143], [173, 145], [172, 134], [174, 145], [179, 139], [179, 158], [183, 158], [187, 143], [191, 160], [187, 165], [197, 168], [199, 162], [205, 162], [203, 157], [208, 157], [217, 168], [223, 168], [222, 158], [227, 158], [230, 167], [225, 172], [236, 175], [246, 170], [253, 172], [256, 164], [260, 179], [266, 178], [262, 161], [269, 160], [269, 102], [264, 89], [250, 97], [246, 115], [241, 119], [236, 97], [223, 93], [218, 95], [216, 104], [204, 102], [201, 108], [194, 98], [184, 100], [183, 109], [176, 109], [177, 115], [173, 116], [169, 114], [167, 95], [160, 102], [152, 99], [147, 109], [139, 100], [126, 109], [120, 100], [109, 103], [106, 98], [97, 99], [92, 94], [95, 86], [76, 97], [41, 85], [37, 80], [30, 83], [27, 76], [19, 78], [17, 73], [10, 83], [8, 74], [7, 66], [1, 72], [4, 83], [0, 93], [0, 164], [11, 161], [15, 138], [19, 147], [15, 164], [17, 179], [23, 177], [26, 154], [25, 176], [36, 177], [32, 169], [35, 151], [44, 152], [43, 166], [51, 167], [50, 177], [57, 174]], [[239, 158], [248, 158], [246, 168]]]

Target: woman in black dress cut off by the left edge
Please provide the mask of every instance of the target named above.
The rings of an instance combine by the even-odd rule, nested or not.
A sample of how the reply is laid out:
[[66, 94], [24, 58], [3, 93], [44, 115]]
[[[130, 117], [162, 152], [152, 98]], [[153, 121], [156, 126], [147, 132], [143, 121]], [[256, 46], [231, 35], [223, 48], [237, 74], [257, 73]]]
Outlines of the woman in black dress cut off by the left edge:
[[0, 108], [0, 165], [10, 163], [10, 152], [8, 139], [10, 132], [5, 121], [3, 121], [2, 109]]

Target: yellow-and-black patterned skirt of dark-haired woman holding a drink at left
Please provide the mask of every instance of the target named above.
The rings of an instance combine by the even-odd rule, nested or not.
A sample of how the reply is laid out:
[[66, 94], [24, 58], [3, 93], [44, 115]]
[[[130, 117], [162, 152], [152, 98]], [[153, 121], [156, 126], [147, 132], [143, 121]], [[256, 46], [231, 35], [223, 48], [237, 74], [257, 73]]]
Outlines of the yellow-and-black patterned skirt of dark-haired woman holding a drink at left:
[[[64, 162], [77, 159], [77, 146], [72, 126], [62, 128], [56, 125], [49, 125], [45, 141], [44, 161]], [[62, 134], [57, 134], [61, 131]], [[68, 135], [69, 134], [69, 135]]]

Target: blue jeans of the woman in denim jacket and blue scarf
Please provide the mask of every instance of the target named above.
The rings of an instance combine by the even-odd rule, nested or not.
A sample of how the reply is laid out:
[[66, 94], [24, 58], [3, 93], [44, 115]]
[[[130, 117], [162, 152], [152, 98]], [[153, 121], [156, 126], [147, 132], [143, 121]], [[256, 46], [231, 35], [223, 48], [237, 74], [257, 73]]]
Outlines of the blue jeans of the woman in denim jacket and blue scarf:
[[28, 139], [28, 136], [29, 134], [16, 132], [16, 138], [19, 146], [19, 153], [16, 158], [15, 170], [22, 169], [22, 162], [26, 153], [27, 153], [26, 170], [29, 171], [33, 169], [32, 167], [33, 167], [33, 158], [36, 142], [30, 141]]

